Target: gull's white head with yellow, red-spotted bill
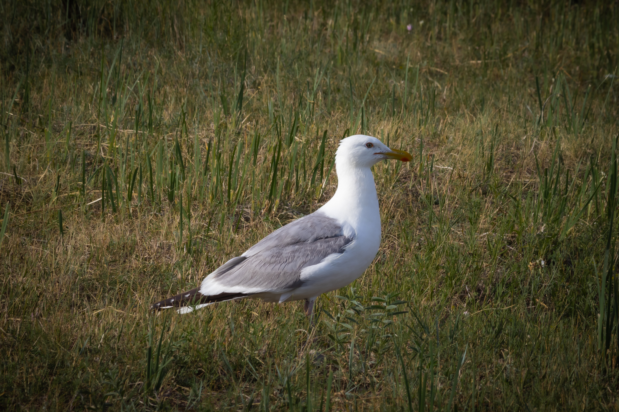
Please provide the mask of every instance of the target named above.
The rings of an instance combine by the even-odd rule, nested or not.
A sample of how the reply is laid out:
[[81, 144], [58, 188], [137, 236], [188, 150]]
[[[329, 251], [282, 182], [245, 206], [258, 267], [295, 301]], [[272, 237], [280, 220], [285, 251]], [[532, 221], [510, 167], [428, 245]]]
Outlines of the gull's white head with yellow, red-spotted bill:
[[335, 164], [348, 167], [371, 167], [384, 159], [410, 162], [413, 158], [405, 151], [390, 149], [375, 137], [354, 135], [342, 139], [335, 153]]

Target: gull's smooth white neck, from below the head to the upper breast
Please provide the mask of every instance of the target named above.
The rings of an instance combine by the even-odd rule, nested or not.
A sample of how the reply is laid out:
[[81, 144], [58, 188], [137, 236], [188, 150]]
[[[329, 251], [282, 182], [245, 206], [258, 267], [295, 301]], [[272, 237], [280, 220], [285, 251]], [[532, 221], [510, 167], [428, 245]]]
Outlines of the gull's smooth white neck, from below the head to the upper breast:
[[[369, 167], [355, 167], [347, 162], [336, 166], [337, 190], [319, 209], [329, 217], [350, 224], [355, 232], [364, 227], [380, 233], [380, 212], [374, 176]], [[371, 226], [370, 227], [368, 227]]]

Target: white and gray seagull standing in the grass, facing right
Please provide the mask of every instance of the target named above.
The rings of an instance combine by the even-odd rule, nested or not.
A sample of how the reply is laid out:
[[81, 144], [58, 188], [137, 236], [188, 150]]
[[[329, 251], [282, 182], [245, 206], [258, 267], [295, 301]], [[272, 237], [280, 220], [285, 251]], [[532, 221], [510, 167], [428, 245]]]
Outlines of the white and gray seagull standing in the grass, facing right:
[[378, 252], [381, 216], [370, 168], [384, 159], [409, 162], [412, 156], [375, 137], [342, 139], [335, 153], [338, 183], [331, 200], [222, 264], [199, 287], [150, 308], [176, 308], [183, 314], [243, 298], [279, 303], [303, 300], [311, 323], [316, 298], [352, 283]]

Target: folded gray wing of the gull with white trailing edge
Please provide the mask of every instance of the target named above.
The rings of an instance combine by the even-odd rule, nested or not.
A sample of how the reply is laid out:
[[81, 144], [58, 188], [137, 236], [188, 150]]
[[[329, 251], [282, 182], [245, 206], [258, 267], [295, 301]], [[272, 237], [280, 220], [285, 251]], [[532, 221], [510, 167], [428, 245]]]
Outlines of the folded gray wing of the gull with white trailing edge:
[[290, 290], [303, 284], [304, 267], [318, 264], [330, 254], [344, 253], [352, 240], [335, 219], [313, 213], [275, 230], [207, 279], [224, 287]]

